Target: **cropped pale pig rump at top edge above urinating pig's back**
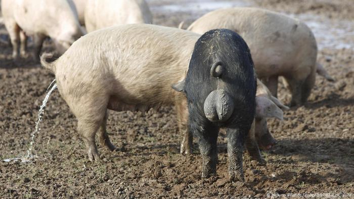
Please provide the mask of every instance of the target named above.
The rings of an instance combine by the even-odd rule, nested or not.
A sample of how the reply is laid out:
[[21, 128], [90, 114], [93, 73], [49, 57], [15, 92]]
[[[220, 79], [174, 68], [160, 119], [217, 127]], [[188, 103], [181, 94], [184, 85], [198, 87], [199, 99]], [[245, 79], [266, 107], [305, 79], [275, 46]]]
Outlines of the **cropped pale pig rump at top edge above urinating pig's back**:
[[[75, 2], [77, 1], [79, 0]], [[113, 25], [143, 23], [152, 24], [152, 14], [145, 0], [87, 0], [86, 2], [84, 24], [87, 32]]]

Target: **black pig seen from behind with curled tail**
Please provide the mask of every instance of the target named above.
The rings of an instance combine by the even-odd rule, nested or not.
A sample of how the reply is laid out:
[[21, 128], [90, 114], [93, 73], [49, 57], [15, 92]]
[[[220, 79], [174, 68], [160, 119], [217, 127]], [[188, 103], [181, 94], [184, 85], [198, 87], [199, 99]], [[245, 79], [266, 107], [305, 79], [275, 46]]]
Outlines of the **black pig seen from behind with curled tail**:
[[188, 99], [189, 128], [199, 138], [202, 177], [216, 174], [219, 128], [227, 128], [229, 174], [244, 181], [242, 152], [255, 117], [256, 77], [246, 42], [214, 29], [196, 42], [185, 81], [174, 85]]

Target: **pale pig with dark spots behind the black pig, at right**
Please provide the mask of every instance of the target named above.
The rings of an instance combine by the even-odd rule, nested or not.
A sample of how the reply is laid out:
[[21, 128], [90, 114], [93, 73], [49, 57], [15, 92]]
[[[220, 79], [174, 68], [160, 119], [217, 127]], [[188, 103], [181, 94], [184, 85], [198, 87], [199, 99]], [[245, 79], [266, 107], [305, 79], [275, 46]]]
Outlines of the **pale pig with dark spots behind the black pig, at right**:
[[246, 40], [258, 78], [275, 97], [278, 77], [284, 77], [292, 93], [291, 106], [307, 101], [315, 85], [316, 71], [333, 80], [316, 63], [314, 34], [297, 19], [258, 8], [228, 8], [205, 14], [187, 30], [202, 34], [214, 28], [234, 30]]

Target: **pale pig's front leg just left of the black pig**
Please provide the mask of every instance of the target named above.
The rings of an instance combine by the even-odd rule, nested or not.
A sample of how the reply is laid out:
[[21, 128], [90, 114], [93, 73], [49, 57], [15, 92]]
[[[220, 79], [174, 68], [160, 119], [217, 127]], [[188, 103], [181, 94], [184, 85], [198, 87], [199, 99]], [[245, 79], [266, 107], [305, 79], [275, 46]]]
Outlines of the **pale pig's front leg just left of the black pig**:
[[177, 112], [178, 127], [182, 134], [181, 151], [182, 155], [190, 155], [192, 153], [193, 137], [187, 125], [188, 121], [188, 108], [187, 102], [184, 100], [181, 103], [175, 105]]

